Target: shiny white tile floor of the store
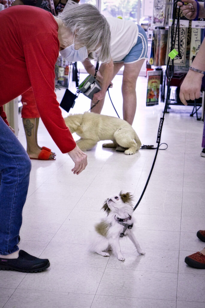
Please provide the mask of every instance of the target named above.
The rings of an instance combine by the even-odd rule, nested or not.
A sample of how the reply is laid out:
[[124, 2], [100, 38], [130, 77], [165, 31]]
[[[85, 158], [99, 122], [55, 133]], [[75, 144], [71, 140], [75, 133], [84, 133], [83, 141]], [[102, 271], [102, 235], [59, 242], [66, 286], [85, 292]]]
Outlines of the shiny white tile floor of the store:
[[[121, 78], [116, 76], [110, 90], [120, 117]], [[146, 85], [147, 79], [140, 77], [133, 127], [142, 144], [156, 145], [164, 105], [145, 107]], [[63, 94], [64, 90], [57, 90], [59, 101]], [[81, 94], [71, 112], [88, 109], [89, 99]], [[19, 248], [49, 258], [51, 266], [37, 274], [0, 271], [0, 308], [205, 307], [205, 270], [184, 263], [185, 256], [205, 246], [196, 237], [205, 228], [205, 158], [200, 157], [203, 123], [189, 116], [191, 109], [172, 107], [165, 115], [161, 142], [168, 143], [168, 149], [159, 151], [134, 213], [136, 236], [146, 254], [138, 255], [122, 239], [124, 262], [112, 254], [109, 258], [91, 254], [86, 243], [110, 194], [130, 191], [138, 201], [155, 151], [126, 156], [102, 148], [99, 142], [87, 152], [85, 171], [76, 176], [71, 172], [72, 160], [58, 150], [40, 124], [39, 144], [51, 147], [57, 159], [32, 161]], [[108, 97], [102, 113], [115, 116]], [[19, 124], [19, 140], [26, 147], [20, 116]]]

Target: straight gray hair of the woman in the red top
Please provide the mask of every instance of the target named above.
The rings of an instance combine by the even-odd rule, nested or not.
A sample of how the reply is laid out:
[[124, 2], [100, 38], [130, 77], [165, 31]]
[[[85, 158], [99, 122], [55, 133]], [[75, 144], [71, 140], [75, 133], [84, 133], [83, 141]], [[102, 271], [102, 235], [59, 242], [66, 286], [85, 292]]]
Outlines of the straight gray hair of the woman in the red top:
[[89, 59], [110, 61], [110, 27], [96, 6], [88, 3], [64, 9], [57, 16], [74, 34], [78, 43], [92, 51]]

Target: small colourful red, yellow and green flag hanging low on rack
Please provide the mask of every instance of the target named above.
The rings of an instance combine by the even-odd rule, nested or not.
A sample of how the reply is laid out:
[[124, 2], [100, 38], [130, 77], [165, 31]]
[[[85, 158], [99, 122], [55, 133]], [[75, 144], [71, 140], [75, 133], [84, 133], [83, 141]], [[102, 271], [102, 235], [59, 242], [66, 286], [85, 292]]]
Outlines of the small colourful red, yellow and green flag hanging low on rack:
[[161, 74], [162, 71], [148, 71], [146, 106], [154, 106], [159, 103]]

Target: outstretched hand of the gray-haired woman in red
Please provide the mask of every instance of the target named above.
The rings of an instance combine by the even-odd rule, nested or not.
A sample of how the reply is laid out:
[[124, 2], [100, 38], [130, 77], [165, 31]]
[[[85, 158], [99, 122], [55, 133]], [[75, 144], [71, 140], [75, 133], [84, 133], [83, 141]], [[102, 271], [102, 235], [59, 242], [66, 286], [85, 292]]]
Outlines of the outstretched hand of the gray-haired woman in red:
[[79, 174], [87, 166], [87, 154], [81, 151], [81, 149], [76, 145], [76, 147], [68, 152], [70, 158], [74, 161], [75, 166], [71, 170], [74, 174]]

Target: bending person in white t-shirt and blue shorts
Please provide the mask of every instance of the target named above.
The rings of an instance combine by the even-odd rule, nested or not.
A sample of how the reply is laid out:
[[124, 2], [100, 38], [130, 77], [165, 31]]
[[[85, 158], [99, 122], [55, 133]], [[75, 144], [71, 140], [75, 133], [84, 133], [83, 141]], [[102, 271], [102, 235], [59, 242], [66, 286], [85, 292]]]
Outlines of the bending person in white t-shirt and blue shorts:
[[[123, 119], [132, 125], [136, 112], [136, 81], [147, 56], [147, 35], [144, 29], [132, 21], [115, 17], [106, 17], [111, 31], [111, 57], [109, 63], [102, 63], [97, 79], [101, 91], [93, 96], [91, 106], [99, 102], [91, 111], [100, 114], [104, 97], [112, 79], [124, 65], [122, 79]], [[86, 71], [94, 75], [95, 67], [86, 59], [83, 62]]]

